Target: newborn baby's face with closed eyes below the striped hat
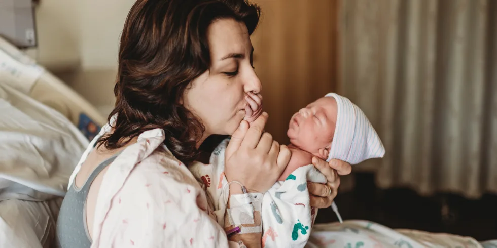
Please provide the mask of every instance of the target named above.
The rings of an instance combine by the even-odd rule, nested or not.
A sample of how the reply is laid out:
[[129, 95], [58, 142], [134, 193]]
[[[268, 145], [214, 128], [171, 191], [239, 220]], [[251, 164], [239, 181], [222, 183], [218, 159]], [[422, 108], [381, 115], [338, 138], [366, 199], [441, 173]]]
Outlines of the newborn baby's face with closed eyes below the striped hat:
[[317, 99], [299, 110], [290, 119], [287, 131], [290, 142], [315, 155], [318, 154], [319, 149], [328, 148], [329, 150], [335, 134], [337, 114], [335, 98]]

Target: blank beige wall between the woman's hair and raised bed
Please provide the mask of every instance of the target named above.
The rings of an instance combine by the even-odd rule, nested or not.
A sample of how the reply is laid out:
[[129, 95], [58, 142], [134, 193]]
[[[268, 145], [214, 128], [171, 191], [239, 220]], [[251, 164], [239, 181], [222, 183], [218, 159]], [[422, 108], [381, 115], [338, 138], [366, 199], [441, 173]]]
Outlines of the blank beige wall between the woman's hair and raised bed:
[[29, 54], [108, 114], [114, 104], [119, 35], [133, 3], [40, 1], [36, 8], [39, 46]]

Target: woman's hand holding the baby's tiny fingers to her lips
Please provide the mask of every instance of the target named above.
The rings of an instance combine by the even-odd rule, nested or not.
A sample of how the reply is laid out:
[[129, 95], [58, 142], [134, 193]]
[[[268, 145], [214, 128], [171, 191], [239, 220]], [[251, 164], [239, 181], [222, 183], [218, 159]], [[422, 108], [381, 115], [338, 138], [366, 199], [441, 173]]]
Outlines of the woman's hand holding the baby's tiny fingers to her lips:
[[[224, 173], [228, 182], [265, 193], [290, 161], [290, 150], [263, 133], [268, 114], [262, 113], [250, 126], [242, 121], [226, 147]], [[231, 187], [230, 187], [231, 188]], [[240, 188], [240, 187], [237, 187]]]

